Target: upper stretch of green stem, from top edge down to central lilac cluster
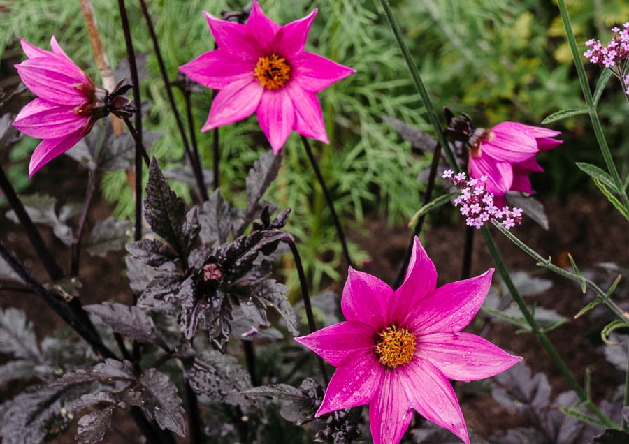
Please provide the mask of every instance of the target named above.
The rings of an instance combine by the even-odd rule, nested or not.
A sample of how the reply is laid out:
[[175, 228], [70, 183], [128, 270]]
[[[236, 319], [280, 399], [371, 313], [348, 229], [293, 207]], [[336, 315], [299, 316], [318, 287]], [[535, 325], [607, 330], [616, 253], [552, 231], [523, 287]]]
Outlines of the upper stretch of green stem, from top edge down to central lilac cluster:
[[417, 65], [415, 65], [410, 51], [408, 50], [406, 42], [404, 41], [402, 31], [400, 30], [400, 26], [398, 25], [395, 15], [393, 15], [393, 10], [391, 10], [389, 0], [379, 1], [382, 5], [382, 8], [384, 9], [386, 21], [389, 22], [391, 31], [393, 31], [393, 36], [395, 36], [398, 45], [400, 46], [400, 50], [402, 51], [402, 55], [408, 66], [408, 71], [410, 72], [413, 83], [415, 84], [415, 88], [417, 88], [417, 92], [419, 92], [419, 96], [421, 96], [421, 101], [424, 102], [424, 108], [426, 108], [426, 114], [428, 114], [428, 121], [430, 121], [431, 125], [433, 126], [433, 131], [435, 131], [435, 135], [437, 135], [437, 140], [441, 144], [441, 147], [446, 154], [450, 168], [452, 168], [455, 172], [461, 172], [461, 168], [458, 168], [458, 164], [454, 160], [454, 154], [452, 153], [450, 145], [448, 144], [448, 141], [446, 140], [443, 133], [442, 128], [444, 128], [444, 125], [439, 123], [439, 117], [437, 115], [437, 112], [435, 111], [433, 102], [431, 101], [431, 96], [428, 95], [428, 91], [424, 86], [424, 82], [421, 81], [419, 70], [417, 69]]

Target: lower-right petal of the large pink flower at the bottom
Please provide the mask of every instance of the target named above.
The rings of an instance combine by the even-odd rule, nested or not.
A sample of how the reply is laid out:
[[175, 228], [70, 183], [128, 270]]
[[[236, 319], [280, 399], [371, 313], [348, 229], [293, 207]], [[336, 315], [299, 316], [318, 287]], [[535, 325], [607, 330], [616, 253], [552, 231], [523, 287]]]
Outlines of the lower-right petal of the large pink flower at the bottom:
[[443, 373], [430, 362], [416, 358], [400, 367], [398, 378], [417, 413], [470, 444], [458, 399]]

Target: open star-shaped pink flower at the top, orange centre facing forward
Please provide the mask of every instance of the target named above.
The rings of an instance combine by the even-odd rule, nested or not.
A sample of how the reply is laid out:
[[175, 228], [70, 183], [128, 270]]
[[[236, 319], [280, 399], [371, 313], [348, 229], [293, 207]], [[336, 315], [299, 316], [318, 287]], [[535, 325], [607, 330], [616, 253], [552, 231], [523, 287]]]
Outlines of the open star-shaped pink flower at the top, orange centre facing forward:
[[275, 154], [291, 130], [328, 143], [316, 94], [354, 70], [303, 50], [317, 10], [283, 27], [257, 1], [245, 24], [203, 14], [219, 49], [179, 67], [192, 80], [220, 90], [201, 131], [256, 112]]

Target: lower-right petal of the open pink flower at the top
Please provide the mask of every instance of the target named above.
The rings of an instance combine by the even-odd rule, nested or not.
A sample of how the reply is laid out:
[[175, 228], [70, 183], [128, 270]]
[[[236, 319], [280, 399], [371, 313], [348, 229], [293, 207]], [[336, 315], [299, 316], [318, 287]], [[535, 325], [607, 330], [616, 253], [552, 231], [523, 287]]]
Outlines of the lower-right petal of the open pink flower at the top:
[[295, 107], [293, 129], [307, 138], [329, 143], [321, 105], [315, 93], [305, 91], [298, 82], [289, 82], [284, 89]]

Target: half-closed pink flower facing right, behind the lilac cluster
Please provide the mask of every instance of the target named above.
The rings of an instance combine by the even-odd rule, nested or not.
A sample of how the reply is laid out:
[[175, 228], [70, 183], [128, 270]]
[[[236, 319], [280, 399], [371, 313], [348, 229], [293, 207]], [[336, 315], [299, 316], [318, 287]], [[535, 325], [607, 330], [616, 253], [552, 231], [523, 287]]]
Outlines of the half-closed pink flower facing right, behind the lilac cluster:
[[[533, 193], [528, 173], [544, 171], [535, 161], [538, 151], [558, 147], [562, 140], [553, 139], [559, 131], [505, 121], [472, 139], [470, 177], [488, 177], [487, 191], [496, 197], [507, 191]], [[498, 199], [504, 205], [504, 199]]]

